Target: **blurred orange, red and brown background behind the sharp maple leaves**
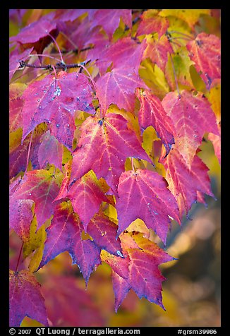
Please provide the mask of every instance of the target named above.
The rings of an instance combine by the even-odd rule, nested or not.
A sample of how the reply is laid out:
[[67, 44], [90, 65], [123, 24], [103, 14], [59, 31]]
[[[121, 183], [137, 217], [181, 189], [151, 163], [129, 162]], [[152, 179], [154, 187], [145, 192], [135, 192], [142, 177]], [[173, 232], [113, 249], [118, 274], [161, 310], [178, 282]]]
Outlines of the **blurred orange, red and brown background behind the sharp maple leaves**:
[[[47, 10], [11, 10], [10, 35], [40, 18]], [[42, 12], [43, 11], [43, 12]], [[197, 31], [217, 34], [219, 10], [212, 18], [202, 16]], [[212, 31], [214, 30], [214, 32]], [[50, 325], [58, 326], [186, 326], [217, 327], [220, 322], [220, 166], [207, 135], [199, 156], [210, 169], [212, 192], [217, 200], [207, 196], [207, 207], [194, 204], [190, 220], [181, 227], [173, 223], [165, 250], [178, 260], [160, 266], [167, 278], [163, 282], [162, 308], [146, 299], [138, 299], [131, 290], [117, 313], [114, 312], [114, 292], [111, 270], [102, 263], [93, 272], [85, 290], [85, 281], [77, 265], [71, 265], [68, 253], [61, 253], [36, 273], [42, 284]], [[159, 243], [159, 242], [158, 242]], [[160, 244], [159, 244], [160, 245]], [[10, 234], [10, 268], [15, 269], [21, 241]], [[163, 246], [161, 246], [163, 247]], [[29, 260], [20, 262], [24, 269]], [[24, 318], [21, 326], [40, 326]]]

